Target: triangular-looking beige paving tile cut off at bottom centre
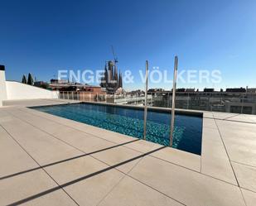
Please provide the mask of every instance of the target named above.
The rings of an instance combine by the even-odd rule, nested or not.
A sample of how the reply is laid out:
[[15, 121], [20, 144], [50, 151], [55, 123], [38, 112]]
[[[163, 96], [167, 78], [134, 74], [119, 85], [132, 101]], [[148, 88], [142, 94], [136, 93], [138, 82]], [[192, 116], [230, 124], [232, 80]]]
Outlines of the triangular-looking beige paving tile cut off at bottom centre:
[[126, 176], [99, 205], [178, 206], [183, 204], [179, 204], [145, 184]]

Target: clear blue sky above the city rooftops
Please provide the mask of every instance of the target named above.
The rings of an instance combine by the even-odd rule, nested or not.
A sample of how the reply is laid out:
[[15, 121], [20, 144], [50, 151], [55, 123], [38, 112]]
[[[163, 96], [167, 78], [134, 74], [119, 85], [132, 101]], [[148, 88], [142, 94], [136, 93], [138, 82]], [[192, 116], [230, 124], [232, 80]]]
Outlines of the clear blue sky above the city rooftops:
[[[7, 79], [31, 72], [39, 80], [58, 69], [103, 69], [118, 55], [118, 67], [131, 69], [142, 89], [138, 69], [170, 71], [174, 55], [179, 70], [220, 69], [220, 84], [177, 87], [216, 89], [256, 87], [255, 1], [0, 1], [0, 64]], [[171, 89], [171, 84], [149, 84]]]

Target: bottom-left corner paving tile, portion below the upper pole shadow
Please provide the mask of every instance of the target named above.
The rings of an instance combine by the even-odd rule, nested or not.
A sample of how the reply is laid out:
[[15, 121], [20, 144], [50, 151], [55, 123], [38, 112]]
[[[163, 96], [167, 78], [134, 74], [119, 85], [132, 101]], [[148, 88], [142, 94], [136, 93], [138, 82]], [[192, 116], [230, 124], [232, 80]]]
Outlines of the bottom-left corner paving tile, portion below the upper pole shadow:
[[[46, 175], [43, 170], [35, 170], [15, 177], [0, 180], [0, 205], [15, 203], [22, 199], [27, 199], [35, 194], [40, 194], [48, 189], [55, 188], [57, 184]], [[74, 202], [61, 189], [52, 194], [39, 196], [28, 205], [75, 205]], [[62, 204], [61, 204], [62, 205]]]

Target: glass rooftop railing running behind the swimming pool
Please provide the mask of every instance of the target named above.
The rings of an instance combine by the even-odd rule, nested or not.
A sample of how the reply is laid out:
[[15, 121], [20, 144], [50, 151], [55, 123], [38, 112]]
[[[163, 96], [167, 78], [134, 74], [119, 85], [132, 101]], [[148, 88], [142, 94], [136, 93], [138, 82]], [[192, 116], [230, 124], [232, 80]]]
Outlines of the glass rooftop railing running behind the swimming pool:
[[[59, 98], [85, 102], [144, 105], [144, 93], [63, 92]], [[171, 92], [148, 92], [147, 106], [171, 108]], [[176, 92], [176, 108], [223, 113], [256, 114], [256, 93]]]

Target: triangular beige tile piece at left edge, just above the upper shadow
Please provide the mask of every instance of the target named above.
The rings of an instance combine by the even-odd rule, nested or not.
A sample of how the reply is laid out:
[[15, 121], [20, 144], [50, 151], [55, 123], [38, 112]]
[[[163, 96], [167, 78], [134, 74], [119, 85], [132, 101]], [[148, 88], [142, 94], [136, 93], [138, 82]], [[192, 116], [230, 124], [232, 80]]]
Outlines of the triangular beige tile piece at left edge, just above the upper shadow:
[[38, 167], [2, 127], [0, 127], [0, 165], [0, 178]]

